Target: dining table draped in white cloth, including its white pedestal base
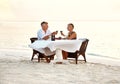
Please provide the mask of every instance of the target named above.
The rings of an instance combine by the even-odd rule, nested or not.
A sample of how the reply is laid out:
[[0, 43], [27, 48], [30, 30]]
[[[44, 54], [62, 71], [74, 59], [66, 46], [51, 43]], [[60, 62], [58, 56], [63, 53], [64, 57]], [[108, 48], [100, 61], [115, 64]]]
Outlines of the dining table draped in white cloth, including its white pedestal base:
[[[63, 60], [62, 50], [66, 52], [76, 52], [80, 49], [80, 46], [84, 39], [81, 40], [55, 40], [55, 41], [45, 41], [37, 40], [30, 44], [29, 47], [45, 54], [46, 56], [56, 54], [56, 59], [51, 60], [51, 63], [62, 62], [69, 63], [68, 60]], [[50, 49], [47, 52], [45, 49]]]

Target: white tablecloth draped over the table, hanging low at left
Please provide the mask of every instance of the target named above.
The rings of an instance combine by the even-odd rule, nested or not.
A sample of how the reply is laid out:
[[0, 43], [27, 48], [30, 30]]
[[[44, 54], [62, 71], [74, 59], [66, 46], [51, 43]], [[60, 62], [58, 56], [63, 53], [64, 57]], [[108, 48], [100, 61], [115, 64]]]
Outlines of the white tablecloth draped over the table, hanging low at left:
[[30, 44], [29, 47], [41, 53], [44, 53], [45, 55], [51, 55], [56, 49], [61, 49], [67, 52], [75, 52], [76, 50], [80, 49], [81, 43], [83, 41], [84, 40], [37, 40], [34, 43]]

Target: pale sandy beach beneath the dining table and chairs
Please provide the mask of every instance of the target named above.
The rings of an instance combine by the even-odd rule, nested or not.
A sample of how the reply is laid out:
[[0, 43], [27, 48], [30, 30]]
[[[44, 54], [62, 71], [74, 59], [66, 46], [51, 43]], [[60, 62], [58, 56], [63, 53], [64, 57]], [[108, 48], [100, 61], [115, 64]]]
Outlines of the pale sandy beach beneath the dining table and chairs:
[[112, 65], [114, 61], [105, 64], [87, 57], [87, 63], [70, 60], [51, 65], [30, 61], [31, 54], [31, 50], [0, 49], [0, 84], [120, 84], [120, 66]]

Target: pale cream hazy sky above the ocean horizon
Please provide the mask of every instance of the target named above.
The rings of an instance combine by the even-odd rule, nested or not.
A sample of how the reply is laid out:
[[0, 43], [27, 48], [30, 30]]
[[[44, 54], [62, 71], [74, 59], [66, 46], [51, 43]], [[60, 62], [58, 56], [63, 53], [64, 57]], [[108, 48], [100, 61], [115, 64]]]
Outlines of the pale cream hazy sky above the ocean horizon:
[[0, 21], [120, 20], [120, 0], [0, 0]]

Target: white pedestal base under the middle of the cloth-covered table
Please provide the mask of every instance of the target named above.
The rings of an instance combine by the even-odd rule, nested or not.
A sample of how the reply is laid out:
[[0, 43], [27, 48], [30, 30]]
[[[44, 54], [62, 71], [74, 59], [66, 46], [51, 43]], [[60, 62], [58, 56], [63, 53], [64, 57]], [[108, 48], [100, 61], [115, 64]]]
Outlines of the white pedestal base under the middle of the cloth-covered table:
[[61, 49], [56, 49], [56, 59], [51, 60], [51, 64], [57, 63], [57, 62], [61, 62], [64, 64], [69, 64], [68, 60], [63, 60], [63, 56], [62, 56], [62, 50]]

